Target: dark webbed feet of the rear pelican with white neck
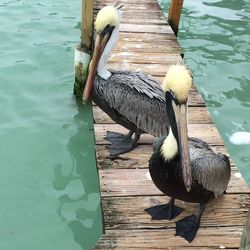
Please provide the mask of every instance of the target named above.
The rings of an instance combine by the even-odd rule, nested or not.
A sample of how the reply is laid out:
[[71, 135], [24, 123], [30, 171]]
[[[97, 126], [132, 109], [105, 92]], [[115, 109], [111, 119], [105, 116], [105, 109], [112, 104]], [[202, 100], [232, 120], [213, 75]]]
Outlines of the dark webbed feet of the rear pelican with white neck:
[[[135, 137], [132, 139], [131, 136], [133, 133], [131, 131], [126, 136], [114, 132], [110, 133], [112, 133], [112, 139], [110, 137], [107, 140], [112, 142], [112, 144], [108, 145], [107, 149], [111, 157], [130, 152], [137, 146], [138, 140], [140, 138], [140, 134], [135, 134]], [[117, 134], [117, 137], [115, 136], [115, 134]]]

